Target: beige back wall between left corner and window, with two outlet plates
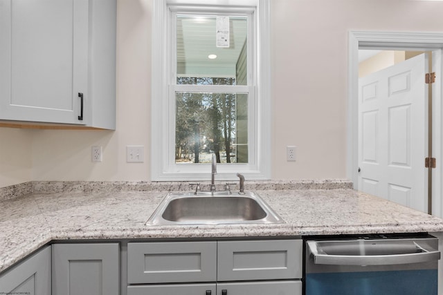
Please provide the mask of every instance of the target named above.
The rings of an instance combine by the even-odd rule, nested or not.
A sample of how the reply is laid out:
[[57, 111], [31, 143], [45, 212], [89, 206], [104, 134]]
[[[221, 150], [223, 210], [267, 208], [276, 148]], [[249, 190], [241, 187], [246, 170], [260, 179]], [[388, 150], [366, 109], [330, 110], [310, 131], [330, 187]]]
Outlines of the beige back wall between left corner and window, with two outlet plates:
[[[35, 131], [33, 180], [149, 180], [151, 1], [118, 1], [116, 131]], [[91, 162], [91, 146], [103, 162]], [[127, 163], [126, 146], [145, 146]]]

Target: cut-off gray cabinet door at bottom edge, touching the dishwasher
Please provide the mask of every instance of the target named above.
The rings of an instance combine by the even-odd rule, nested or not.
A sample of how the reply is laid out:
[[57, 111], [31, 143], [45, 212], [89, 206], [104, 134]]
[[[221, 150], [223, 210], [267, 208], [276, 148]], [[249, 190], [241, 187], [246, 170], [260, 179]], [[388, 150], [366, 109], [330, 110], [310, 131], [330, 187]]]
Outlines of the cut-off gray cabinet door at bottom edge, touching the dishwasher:
[[[302, 295], [302, 282], [264, 281], [245, 283], [219, 283], [217, 295]], [[128, 294], [129, 295], [129, 294]]]

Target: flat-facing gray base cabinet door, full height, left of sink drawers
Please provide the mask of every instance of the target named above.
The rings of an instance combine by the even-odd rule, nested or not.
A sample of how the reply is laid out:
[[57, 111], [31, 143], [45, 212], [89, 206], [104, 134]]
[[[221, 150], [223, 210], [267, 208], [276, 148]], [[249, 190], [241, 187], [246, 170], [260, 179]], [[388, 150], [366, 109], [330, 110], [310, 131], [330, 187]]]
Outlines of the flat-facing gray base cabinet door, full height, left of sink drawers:
[[53, 295], [118, 295], [119, 247], [111, 244], [55, 244]]

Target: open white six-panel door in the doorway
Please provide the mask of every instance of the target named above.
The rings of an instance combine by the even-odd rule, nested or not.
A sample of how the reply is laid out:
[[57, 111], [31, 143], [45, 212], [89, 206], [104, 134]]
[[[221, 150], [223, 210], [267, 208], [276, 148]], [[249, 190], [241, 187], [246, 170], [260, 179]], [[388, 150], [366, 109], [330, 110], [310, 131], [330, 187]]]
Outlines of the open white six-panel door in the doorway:
[[359, 190], [427, 211], [428, 60], [359, 79]]

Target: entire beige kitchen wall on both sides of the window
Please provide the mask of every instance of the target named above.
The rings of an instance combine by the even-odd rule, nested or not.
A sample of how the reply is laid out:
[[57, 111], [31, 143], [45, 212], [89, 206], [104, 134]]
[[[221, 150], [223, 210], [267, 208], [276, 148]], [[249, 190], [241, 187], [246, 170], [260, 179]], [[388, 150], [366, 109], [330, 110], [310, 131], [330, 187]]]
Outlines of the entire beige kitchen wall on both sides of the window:
[[[441, 1], [272, 0], [272, 178], [345, 178], [348, 30], [443, 32], [442, 11]], [[152, 0], [118, 0], [117, 131], [0, 128], [0, 187], [150, 180], [150, 129], [159, 127], [150, 126], [151, 20]], [[126, 163], [132, 144], [145, 145], [145, 163]], [[103, 146], [102, 163], [91, 162], [93, 145]], [[297, 162], [286, 161], [287, 145], [298, 146]]]

